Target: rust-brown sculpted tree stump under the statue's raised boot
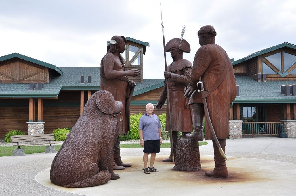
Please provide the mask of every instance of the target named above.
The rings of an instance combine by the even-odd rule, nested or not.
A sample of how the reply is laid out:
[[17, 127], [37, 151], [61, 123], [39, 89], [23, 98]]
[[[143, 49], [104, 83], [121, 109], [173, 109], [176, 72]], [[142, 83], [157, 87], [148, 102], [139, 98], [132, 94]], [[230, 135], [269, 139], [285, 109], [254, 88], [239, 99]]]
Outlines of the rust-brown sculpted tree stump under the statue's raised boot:
[[177, 139], [176, 163], [173, 170], [201, 171], [200, 148], [195, 139]]

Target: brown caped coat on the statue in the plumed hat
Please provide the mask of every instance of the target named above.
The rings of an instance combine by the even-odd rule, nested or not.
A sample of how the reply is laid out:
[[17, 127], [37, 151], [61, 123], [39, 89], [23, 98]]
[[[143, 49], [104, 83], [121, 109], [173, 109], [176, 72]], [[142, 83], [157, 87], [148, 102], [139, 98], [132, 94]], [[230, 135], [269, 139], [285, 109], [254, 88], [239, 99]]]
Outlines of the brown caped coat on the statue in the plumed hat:
[[[168, 66], [168, 72], [171, 72], [169, 82], [170, 94], [170, 116], [172, 121], [172, 131], [192, 132], [192, 120], [188, 99], [184, 97], [184, 88], [190, 81], [192, 64], [186, 59], [180, 59], [171, 63]], [[158, 101], [165, 103], [167, 98], [166, 82], [163, 85], [163, 90], [158, 98]], [[170, 131], [168, 120], [168, 107], [166, 110], [165, 130]]]

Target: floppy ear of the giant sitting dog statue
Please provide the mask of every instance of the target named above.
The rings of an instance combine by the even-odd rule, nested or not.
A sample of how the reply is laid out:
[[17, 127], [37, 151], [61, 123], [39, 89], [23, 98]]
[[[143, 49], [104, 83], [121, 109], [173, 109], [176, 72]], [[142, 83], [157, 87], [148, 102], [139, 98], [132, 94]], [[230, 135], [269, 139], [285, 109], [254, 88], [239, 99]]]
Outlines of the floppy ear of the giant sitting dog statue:
[[114, 113], [114, 97], [109, 91], [100, 90], [96, 98], [96, 105], [105, 114]]

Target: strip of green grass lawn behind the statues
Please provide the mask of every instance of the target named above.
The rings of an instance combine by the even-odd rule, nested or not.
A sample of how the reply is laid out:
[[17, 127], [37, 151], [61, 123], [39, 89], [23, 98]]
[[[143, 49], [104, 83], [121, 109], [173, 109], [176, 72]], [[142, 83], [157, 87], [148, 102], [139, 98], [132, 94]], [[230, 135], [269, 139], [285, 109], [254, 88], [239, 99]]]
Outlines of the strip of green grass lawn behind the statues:
[[[200, 146], [206, 145], [207, 142], [199, 142]], [[56, 150], [59, 151], [62, 145], [55, 146]], [[16, 146], [0, 146], [0, 156], [11, 156]], [[25, 154], [45, 152], [46, 146], [21, 146], [25, 149]], [[120, 148], [143, 148], [138, 143], [133, 144], [120, 144]], [[170, 143], [163, 143], [160, 148], [170, 148]]]

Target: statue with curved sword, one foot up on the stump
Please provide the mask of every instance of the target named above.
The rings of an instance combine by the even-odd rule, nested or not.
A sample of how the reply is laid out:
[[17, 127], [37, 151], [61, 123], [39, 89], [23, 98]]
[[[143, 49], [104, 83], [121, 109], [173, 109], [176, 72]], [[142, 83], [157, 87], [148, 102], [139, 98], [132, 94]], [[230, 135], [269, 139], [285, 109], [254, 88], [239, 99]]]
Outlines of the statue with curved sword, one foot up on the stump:
[[[195, 130], [193, 134], [187, 134], [189, 138], [199, 140], [203, 137], [203, 116], [204, 105], [201, 92], [197, 91], [197, 82], [203, 82], [203, 91], [207, 94], [206, 101], [218, 142], [225, 153], [225, 138], [229, 136], [229, 106], [237, 94], [234, 71], [229, 57], [221, 46], [215, 44], [216, 31], [213, 26], [206, 25], [197, 32], [201, 47], [197, 50], [192, 67], [189, 88], [185, 97], [190, 97], [189, 104], [192, 104], [194, 114]], [[200, 86], [198, 87], [200, 88]], [[203, 96], [205, 97], [205, 96]], [[206, 140], [213, 140], [210, 132], [209, 121], [206, 118]], [[227, 178], [228, 171], [226, 162], [218, 146], [213, 140], [215, 168], [213, 171], [206, 171], [209, 177]]]

